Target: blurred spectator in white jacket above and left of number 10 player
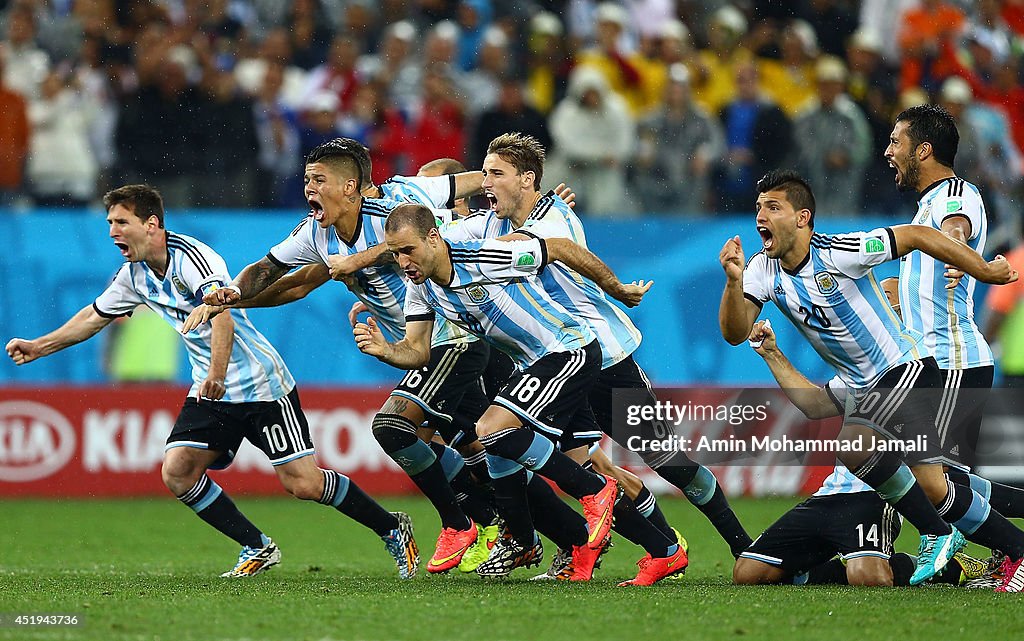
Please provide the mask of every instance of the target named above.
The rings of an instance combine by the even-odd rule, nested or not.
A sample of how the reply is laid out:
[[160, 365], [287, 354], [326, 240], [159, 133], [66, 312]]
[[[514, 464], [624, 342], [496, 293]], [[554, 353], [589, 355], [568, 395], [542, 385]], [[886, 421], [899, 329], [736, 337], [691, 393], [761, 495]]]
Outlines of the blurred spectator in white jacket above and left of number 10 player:
[[29, 104], [32, 136], [26, 168], [36, 205], [84, 207], [96, 195], [99, 169], [89, 144], [96, 108], [59, 72], [51, 72]]

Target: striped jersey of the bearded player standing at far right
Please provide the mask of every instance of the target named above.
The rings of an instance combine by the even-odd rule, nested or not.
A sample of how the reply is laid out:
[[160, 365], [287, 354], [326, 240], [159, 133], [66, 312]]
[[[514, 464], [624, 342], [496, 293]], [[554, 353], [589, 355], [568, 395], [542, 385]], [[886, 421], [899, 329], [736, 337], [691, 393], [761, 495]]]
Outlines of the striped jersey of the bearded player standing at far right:
[[[979, 254], [988, 234], [985, 204], [978, 187], [956, 177], [926, 189], [918, 204], [914, 224], [941, 229], [953, 216], [971, 222], [967, 244]], [[943, 370], [966, 370], [992, 365], [992, 350], [974, 322], [974, 290], [978, 282], [965, 275], [946, 289], [945, 263], [924, 252], [910, 252], [899, 268], [899, 298], [903, 323], [925, 336], [925, 346]]]

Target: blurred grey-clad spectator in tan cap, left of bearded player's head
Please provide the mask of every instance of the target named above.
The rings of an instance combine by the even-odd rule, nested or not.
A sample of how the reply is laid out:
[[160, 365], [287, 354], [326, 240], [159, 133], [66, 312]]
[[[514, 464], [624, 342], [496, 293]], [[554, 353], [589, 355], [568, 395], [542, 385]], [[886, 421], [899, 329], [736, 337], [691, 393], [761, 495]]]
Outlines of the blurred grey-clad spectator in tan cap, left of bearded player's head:
[[794, 122], [801, 173], [814, 189], [819, 212], [857, 214], [864, 167], [871, 160], [871, 130], [845, 93], [846, 66], [841, 59], [822, 56], [815, 77], [818, 100]]

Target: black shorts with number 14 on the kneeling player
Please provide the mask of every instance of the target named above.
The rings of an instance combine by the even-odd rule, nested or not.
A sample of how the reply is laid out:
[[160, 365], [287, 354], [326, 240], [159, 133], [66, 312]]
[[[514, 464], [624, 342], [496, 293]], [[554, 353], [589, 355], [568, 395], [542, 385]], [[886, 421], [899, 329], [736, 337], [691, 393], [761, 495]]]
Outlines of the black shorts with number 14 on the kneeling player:
[[873, 492], [811, 497], [772, 523], [739, 556], [805, 572], [837, 554], [888, 559], [899, 537], [896, 511]]

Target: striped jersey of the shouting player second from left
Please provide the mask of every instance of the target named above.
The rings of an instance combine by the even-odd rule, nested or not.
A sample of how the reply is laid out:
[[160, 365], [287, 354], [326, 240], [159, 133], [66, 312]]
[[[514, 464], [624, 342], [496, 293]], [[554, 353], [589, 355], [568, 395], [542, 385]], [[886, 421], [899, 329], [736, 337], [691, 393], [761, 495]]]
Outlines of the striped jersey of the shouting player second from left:
[[[325, 229], [311, 215], [306, 216], [287, 239], [270, 249], [267, 257], [286, 267], [315, 263], [326, 265], [329, 256], [350, 256], [382, 245], [387, 216], [399, 205], [402, 203], [398, 201], [362, 199], [359, 221], [350, 243], [339, 239], [334, 226]], [[441, 210], [435, 211], [435, 215], [443, 213]], [[402, 305], [406, 301], [407, 283], [406, 274], [395, 263], [359, 269], [352, 279], [345, 282], [349, 291], [370, 309], [389, 341], [399, 341], [406, 336]], [[470, 340], [473, 339], [459, 328], [438, 323], [434, 325], [431, 344], [447, 345]]]

